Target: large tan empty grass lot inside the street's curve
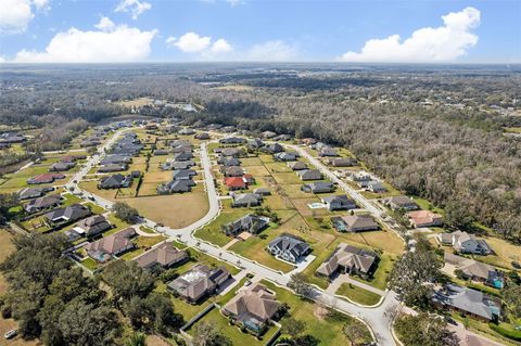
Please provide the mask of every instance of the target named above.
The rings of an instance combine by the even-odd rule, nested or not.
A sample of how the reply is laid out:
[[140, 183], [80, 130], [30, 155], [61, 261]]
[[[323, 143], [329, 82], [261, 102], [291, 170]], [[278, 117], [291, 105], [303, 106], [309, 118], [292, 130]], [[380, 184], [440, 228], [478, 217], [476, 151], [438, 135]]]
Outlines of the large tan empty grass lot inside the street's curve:
[[208, 213], [208, 200], [204, 192], [118, 198], [118, 201], [137, 208], [142, 216], [171, 228], [191, 225]]

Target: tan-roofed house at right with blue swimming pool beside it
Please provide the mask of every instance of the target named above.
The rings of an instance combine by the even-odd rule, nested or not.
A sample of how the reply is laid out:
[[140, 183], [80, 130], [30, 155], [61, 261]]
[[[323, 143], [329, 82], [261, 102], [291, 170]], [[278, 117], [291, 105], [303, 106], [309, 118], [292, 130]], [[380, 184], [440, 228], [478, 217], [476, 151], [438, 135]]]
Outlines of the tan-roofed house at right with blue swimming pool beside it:
[[504, 274], [494, 266], [448, 252], [445, 253], [444, 260], [446, 272], [456, 274], [459, 271], [463, 279], [483, 282], [499, 290], [504, 287]]

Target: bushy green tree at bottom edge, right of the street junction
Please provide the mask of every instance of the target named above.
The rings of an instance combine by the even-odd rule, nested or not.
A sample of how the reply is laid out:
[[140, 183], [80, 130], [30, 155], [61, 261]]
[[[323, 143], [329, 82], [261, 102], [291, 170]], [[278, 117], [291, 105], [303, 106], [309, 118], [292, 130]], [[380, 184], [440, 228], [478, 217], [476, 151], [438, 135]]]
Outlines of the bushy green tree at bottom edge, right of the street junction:
[[421, 312], [404, 315], [394, 324], [399, 341], [410, 346], [458, 346], [459, 338], [446, 329], [447, 323], [439, 316]]

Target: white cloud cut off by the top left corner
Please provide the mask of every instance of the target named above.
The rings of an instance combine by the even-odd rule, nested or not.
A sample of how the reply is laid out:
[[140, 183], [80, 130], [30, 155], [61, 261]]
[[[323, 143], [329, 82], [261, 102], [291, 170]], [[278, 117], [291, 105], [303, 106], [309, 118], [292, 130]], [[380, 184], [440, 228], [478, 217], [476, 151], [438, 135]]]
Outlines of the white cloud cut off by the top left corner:
[[0, 0], [0, 33], [20, 34], [35, 15], [29, 0]]

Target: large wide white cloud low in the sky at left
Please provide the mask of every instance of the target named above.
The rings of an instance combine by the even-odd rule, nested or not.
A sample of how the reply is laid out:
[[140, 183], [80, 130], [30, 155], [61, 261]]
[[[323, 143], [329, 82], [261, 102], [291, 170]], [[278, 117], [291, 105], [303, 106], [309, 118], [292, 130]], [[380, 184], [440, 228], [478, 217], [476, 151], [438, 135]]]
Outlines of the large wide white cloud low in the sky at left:
[[[100, 21], [98, 25], [103, 22]], [[112, 21], [111, 21], [112, 23]], [[107, 22], [105, 21], [105, 25]], [[21, 63], [115, 63], [145, 60], [157, 30], [140, 30], [125, 25], [110, 30], [82, 31], [74, 27], [58, 33], [43, 52], [22, 50], [15, 62]]]

